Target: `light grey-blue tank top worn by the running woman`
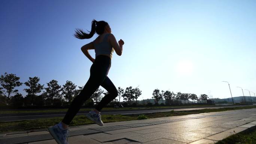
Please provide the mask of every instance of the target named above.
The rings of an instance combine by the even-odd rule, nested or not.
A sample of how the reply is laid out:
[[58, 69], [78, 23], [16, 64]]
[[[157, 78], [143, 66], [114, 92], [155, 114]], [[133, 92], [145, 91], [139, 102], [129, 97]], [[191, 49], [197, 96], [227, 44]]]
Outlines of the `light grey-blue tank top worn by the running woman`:
[[107, 37], [109, 36], [109, 34], [106, 34], [104, 36], [104, 39], [102, 42], [96, 44], [95, 40], [93, 41], [93, 45], [94, 45], [94, 50], [95, 50], [95, 58], [98, 55], [108, 55], [110, 56], [110, 58], [112, 59], [112, 53], [114, 51], [114, 49], [112, 48], [112, 46], [110, 45], [109, 42], [107, 42]]

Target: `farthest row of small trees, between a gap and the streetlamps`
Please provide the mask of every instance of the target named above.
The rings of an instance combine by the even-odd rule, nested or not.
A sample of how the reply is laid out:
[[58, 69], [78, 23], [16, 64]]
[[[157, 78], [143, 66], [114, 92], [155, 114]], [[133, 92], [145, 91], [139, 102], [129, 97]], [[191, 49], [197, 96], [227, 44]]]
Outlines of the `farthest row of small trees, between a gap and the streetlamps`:
[[162, 93], [160, 93], [159, 89], [155, 89], [152, 93], [152, 98], [156, 99], [156, 103], [158, 104], [158, 101], [162, 100], [162, 103], [164, 103], [164, 99], [167, 102], [167, 104], [171, 104], [171, 102], [173, 102], [174, 99], [177, 100], [184, 100], [186, 103], [186, 100], [189, 102], [189, 99], [192, 100], [192, 102], [194, 101], [201, 101], [201, 100], [207, 100], [208, 95], [206, 94], [201, 94], [200, 97], [198, 97], [196, 94], [189, 94], [189, 93], [181, 93], [181, 92], [177, 92], [177, 94], [174, 94], [174, 92], [170, 92], [170, 91], [161, 91]]

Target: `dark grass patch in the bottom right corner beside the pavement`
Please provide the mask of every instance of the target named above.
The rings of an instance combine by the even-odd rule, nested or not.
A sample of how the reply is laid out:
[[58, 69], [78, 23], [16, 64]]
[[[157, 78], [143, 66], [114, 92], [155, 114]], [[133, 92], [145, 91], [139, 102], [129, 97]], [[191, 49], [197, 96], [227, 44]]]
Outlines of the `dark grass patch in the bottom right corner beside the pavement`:
[[216, 144], [256, 144], [256, 129], [231, 135]]

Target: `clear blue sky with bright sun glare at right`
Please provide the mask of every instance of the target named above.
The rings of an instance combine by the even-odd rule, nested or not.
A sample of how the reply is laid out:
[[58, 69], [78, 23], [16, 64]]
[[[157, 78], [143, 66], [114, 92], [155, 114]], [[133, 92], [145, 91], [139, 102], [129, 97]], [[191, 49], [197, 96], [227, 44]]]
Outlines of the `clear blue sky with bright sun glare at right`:
[[[0, 74], [85, 85], [92, 63], [80, 48], [97, 35], [72, 35], [91, 30], [96, 19], [125, 42], [109, 71], [116, 87], [140, 85], [139, 99], [155, 88], [228, 98], [224, 80], [241, 96], [236, 86], [256, 92], [255, 7], [254, 0], [1, 0]], [[24, 88], [18, 90], [25, 95]]]

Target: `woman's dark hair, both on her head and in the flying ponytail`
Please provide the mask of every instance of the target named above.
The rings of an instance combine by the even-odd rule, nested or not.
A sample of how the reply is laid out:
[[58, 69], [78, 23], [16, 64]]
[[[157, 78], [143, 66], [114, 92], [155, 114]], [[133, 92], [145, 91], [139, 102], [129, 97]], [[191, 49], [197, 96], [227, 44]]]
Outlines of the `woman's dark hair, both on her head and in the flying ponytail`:
[[76, 29], [74, 37], [76, 37], [77, 39], [90, 39], [95, 33], [97, 33], [98, 35], [103, 34], [107, 25], [108, 23], [105, 21], [96, 21], [95, 19], [93, 19], [91, 31], [88, 31], [89, 34], [83, 32], [82, 29]]

